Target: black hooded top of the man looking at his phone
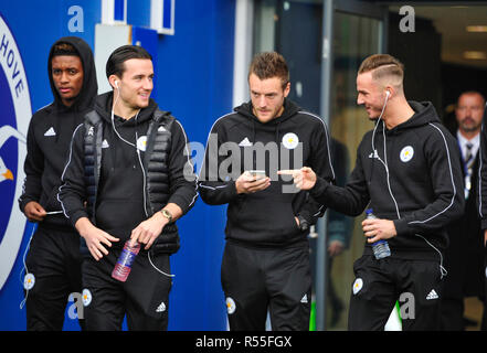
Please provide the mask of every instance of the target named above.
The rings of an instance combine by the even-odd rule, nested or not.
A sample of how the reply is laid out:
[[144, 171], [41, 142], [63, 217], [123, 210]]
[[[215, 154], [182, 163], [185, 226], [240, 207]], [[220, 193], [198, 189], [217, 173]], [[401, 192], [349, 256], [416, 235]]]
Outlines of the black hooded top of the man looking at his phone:
[[[250, 247], [283, 247], [306, 240], [309, 231], [300, 231], [295, 216], [303, 216], [314, 224], [325, 212], [325, 207], [309, 197], [308, 192], [287, 192], [293, 184], [290, 178], [277, 175], [277, 169], [298, 169], [311, 167], [327, 181], [335, 179], [330, 162], [329, 135], [324, 121], [301, 110], [286, 99], [284, 113], [266, 124], [262, 124], [252, 113], [248, 101], [234, 109], [234, 113], [218, 119], [207, 142], [204, 163], [199, 178], [201, 199], [211, 205], [229, 204], [225, 228], [226, 239]], [[233, 142], [237, 151], [225, 152], [225, 142]], [[261, 143], [258, 143], [261, 142]], [[298, 148], [303, 146], [303, 161], [296, 159]], [[245, 150], [261, 147], [276, 147], [277, 154], [255, 153], [245, 164]], [[287, 146], [287, 147], [286, 147]], [[220, 150], [220, 156], [213, 147]], [[263, 149], [261, 149], [263, 150]], [[271, 150], [271, 148], [269, 148]], [[221, 171], [231, 165], [231, 175]], [[289, 159], [283, 154], [289, 156]], [[258, 161], [260, 157], [261, 163]], [[248, 156], [248, 154], [247, 154]], [[213, 162], [210, 159], [213, 158]], [[271, 160], [272, 159], [272, 160]], [[288, 162], [287, 162], [288, 161]], [[271, 165], [274, 169], [271, 169]], [[271, 178], [271, 186], [252, 194], [237, 194], [235, 180], [251, 169], [265, 170]], [[211, 178], [211, 176], [218, 178]]]

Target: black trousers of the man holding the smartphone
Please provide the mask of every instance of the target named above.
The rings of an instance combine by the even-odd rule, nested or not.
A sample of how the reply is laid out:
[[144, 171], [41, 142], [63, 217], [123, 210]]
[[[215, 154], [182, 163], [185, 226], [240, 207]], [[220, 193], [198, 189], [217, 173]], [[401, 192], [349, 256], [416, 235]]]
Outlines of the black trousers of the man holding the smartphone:
[[255, 249], [230, 242], [221, 268], [230, 330], [307, 331], [311, 306], [309, 247]]

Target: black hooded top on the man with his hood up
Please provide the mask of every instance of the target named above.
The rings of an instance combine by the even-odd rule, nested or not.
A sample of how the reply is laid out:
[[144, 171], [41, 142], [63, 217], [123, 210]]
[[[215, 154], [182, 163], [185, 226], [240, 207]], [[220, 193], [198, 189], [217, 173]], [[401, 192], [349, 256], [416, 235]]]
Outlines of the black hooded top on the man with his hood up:
[[[54, 45], [59, 43], [72, 44], [80, 53], [83, 64], [83, 87], [71, 107], [63, 105], [52, 79], [52, 52]], [[84, 115], [93, 109], [98, 90], [92, 50], [75, 36], [62, 38], [53, 44], [47, 60], [47, 75], [54, 101], [38, 110], [29, 125], [28, 154], [24, 162], [25, 181], [22, 195], [19, 197], [22, 212], [31, 201], [39, 202], [47, 212], [62, 210], [56, 195], [71, 137], [75, 127], [83, 121]], [[63, 214], [47, 215], [40, 226], [74, 231]]]

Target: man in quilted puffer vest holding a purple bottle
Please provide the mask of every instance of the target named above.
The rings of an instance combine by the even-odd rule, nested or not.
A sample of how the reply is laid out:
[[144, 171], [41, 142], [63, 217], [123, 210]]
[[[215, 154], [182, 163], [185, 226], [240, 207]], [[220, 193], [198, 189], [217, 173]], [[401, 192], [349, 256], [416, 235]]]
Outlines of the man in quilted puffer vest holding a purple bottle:
[[[124, 45], [108, 57], [113, 92], [99, 95], [72, 140], [59, 197], [82, 239], [87, 330], [168, 327], [169, 256], [176, 221], [194, 205], [197, 182], [181, 124], [150, 98], [151, 55]], [[124, 243], [140, 244], [125, 282], [110, 275]]]

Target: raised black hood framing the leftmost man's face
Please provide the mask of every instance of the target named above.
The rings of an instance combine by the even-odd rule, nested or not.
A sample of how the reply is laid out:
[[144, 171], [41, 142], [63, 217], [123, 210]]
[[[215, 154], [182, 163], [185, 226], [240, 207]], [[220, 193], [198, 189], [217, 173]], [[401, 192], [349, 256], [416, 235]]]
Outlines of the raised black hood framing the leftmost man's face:
[[[62, 103], [61, 96], [52, 78], [52, 58], [53, 58], [54, 46], [61, 43], [67, 43], [73, 45], [76, 49], [81, 62], [83, 64], [83, 87], [80, 92], [80, 95], [76, 97], [75, 101], [71, 107], [66, 107]], [[54, 106], [57, 109], [83, 111], [93, 107], [96, 95], [98, 93], [98, 84], [96, 82], [96, 68], [95, 68], [95, 61], [93, 58], [93, 52], [89, 45], [84, 40], [77, 36], [64, 36], [57, 40], [51, 46], [51, 51], [49, 52], [47, 76], [49, 76], [49, 82], [51, 84], [51, 90], [54, 96]]]

